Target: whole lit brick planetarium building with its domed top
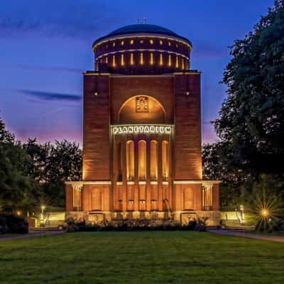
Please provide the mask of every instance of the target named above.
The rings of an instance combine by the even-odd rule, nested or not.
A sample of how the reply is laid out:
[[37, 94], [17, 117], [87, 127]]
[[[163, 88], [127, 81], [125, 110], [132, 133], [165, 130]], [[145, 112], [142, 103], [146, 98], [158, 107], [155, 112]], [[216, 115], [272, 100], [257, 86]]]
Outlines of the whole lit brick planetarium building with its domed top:
[[67, 217], [219, 221], [219, 182], [202, 180], [200, 72], [192, 43], [160, 26], [125, 26], [93, 45], [84, 73], [82, 182]]

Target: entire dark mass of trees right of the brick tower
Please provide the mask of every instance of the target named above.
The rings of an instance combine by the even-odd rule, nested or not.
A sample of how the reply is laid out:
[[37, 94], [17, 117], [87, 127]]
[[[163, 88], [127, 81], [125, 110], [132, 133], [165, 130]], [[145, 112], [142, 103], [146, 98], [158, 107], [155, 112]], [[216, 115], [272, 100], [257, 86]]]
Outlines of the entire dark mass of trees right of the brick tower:
[[236, 40], [231, 56], [228, 97], [214, 123], [219, 141], [204, 145], [203, 158], [204, 177], [222, 180], [222, 204], [233, 207], [261, 184], [284, 197], [283, 0]]

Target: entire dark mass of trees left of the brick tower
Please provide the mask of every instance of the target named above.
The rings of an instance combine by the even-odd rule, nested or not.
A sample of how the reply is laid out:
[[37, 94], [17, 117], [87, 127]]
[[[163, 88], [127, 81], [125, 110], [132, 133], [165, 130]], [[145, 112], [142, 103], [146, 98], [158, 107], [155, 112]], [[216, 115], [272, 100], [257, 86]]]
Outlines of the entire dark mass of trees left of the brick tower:
[[41, 204], [64, 207], [66, 180], [82, 178], [82, 151], [75, 142], [21, 144], [0, 119], [0, 211], [28, 212]]

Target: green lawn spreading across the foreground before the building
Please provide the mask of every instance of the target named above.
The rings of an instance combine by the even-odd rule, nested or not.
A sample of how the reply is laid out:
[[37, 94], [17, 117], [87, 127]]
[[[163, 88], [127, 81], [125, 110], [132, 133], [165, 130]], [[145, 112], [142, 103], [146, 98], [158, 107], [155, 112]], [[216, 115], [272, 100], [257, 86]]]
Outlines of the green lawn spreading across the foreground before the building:
[[284, 244], [192, 231], [0, 241], [0, 283], [283, 283]]

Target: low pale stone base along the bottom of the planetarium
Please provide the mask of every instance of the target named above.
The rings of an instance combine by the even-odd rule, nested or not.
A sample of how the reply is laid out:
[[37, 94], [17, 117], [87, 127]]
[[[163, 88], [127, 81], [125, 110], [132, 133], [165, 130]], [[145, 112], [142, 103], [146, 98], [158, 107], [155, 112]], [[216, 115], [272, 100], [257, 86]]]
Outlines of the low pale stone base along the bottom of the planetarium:
[[66, 219], [73, 218], [77, 221], [85, 221], [87, 224], [97, 224], [102, 221], [126, 220], [126, 219], [148, 219], [148, 220], [165, 220], [173, 219], [180, 224], [197, 219], [208, 217], [208, 226], [217, 226], [220, 222], [219, 211], [126, 211], [126, 212], [110, 212], [110, 211], [71, 211], [66, 212]]

